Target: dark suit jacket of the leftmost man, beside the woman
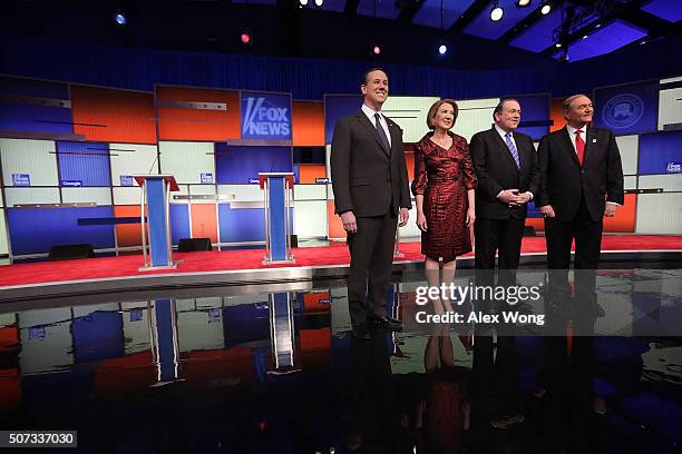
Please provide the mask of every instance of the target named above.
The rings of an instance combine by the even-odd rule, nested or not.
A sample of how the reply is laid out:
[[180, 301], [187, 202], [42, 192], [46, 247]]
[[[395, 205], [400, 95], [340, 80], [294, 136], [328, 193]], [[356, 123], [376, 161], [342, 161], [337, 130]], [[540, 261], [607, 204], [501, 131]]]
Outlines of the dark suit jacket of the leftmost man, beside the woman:
[[[386, 118], [386, 117], [384, 117]], [[382, 216], [411, 208], [402, 129], [386, 118], [390, 156], [362, 110], [339, 120], [331, 148], [331, 177], [338, 215]]]

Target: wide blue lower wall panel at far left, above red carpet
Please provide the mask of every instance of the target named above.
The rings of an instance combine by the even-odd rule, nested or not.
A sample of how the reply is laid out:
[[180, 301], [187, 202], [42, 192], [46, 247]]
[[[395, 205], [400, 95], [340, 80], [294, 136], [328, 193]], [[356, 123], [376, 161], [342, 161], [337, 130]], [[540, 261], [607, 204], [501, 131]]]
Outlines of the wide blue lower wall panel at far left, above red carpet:
[[114, 226], [79, 226], [79, 218], [114, 217], [108, 207], [8, 208], [13, 255], [47, 253], [52, 246], [90, 244], [114, 247]]

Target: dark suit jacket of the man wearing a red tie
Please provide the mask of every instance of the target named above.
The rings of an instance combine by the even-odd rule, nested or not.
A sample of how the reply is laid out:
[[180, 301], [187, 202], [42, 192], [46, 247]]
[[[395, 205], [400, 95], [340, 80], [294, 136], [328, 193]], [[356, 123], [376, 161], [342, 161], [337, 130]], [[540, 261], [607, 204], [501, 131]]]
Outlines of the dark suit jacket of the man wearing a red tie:
[[557, 220], [572, 220], [581, 195], [593, 220], [604, 216], [605, 200], [623, 204], [623, 167], [613, 132], [587, 127], [585, 156], [581, 167], [564, 127], [543, 137], [538, 149], [540, 190], [536, 205], [552, 205]]

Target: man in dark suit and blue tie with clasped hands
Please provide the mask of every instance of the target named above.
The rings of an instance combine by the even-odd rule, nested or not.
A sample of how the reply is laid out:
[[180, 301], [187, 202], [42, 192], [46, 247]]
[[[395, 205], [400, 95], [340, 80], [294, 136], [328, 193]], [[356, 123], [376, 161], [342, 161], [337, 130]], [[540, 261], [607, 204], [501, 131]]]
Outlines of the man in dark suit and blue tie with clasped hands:
[[520, 111], [516, 99], [499, 101], [493, 112], [493, 128], [476, 134], [469, 146], [478, 177], [474, 225], [478, 285], [494, 285], [496, 253], [498, 284], [516, 285], [526, 204], [539, 185], [533, 140], [515, 131]]

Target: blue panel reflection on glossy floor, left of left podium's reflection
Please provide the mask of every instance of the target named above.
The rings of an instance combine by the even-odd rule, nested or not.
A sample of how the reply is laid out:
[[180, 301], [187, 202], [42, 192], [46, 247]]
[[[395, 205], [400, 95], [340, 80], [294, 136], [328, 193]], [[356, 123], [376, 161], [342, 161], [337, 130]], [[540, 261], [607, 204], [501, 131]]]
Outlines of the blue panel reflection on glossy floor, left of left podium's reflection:
[[71, 324], [76, 363], [116, 358], [125, 354], [123, 318], [117, 312], [94, 312]]

